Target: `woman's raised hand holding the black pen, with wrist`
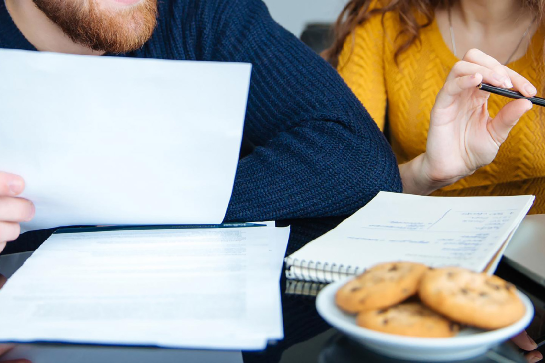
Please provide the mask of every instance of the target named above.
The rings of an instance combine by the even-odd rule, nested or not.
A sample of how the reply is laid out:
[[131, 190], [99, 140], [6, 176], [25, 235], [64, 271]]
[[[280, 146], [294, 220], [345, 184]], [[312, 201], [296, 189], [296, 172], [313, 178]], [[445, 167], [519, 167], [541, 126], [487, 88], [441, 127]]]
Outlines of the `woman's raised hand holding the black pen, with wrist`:
[[433, 106], [426, 152], [400, 165], [405, 193], [429, 194], [492, 162], [518, 119], [532, 108], [525, 99], [507, 103], [494, 119], [481, 82], [513, 88], [526, 97], [535, 87], [517, 72], [472, 49], [452, 68]]

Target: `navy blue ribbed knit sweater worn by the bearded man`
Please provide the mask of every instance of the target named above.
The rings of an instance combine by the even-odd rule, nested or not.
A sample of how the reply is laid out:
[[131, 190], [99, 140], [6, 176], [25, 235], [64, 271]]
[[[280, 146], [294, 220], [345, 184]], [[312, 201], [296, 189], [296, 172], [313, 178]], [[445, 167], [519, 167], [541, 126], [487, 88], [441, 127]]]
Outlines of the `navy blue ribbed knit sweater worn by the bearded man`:
[[[3, 0], [0, 47], [35, 50]], [[293, 250], [379, 190], [401, 191], [395, 156], [370, 115], [261, 0], [161, 0], [152, 38], [122, 56], [253, 64], [244, 143], [254, 149], [240, 159], [227, 221], [288, 219]], [[323, 217], [336, 218], [314, 223]]]

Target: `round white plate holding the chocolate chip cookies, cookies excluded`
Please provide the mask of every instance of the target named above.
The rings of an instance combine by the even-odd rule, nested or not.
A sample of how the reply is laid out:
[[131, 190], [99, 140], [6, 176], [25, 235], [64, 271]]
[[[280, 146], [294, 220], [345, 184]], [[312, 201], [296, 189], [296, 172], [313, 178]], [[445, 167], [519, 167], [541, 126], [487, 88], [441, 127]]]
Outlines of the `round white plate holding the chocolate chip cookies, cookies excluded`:
[[335, 304], [335, 293], [346, 281], [346, 279], [337, 281], [320, 291], [316, 299], [318, 313], [326, 322], [344, 334], [353, 337], [367, 348], [399, 359], [448, 361], [473, 358], [520, 333], [534, 317], [534, 306], [530, 299], [519, 292], [526, 307], [526, 313], [518, 322], [506, 328], [490, 331], [465, 328], [457, 336], [451, 338], [417, 338], [380, 333], [358, 327], [355, 316], [348, 315], [338, 309]]

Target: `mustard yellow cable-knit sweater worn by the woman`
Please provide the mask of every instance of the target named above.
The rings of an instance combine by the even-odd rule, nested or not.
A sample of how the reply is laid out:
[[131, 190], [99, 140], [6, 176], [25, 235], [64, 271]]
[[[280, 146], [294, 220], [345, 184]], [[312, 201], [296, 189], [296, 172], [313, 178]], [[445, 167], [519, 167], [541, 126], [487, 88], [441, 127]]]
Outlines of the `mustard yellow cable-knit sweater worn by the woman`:
[[[347, 38], [338, 71], [367, 108], [381, 130], [388, 120], [389, 137], [398, 162], [405, 163], [426, 151], [429, 114], [435, 96], [458, 59], [445, 44], [435, 21], [421, 30], [421, 43], [413, 44], [394, 61], [399, 30], [397, 15], [372, 17]], [[526, 55], [508, 64], [538, 90], [545, 81], [541, 27]], [[538, 91], [538, 95], [541, 92]], [[490, 116], [510, 100], [491, 95]], [[386, 115], [387, 113], [387, 115]], [[494, 162], [475, 174], [440, 189], [433, 195], [537, 196], [532, 213], [545, 213], [545, 118], [534, 106], [519, 120], [500, 147]]]

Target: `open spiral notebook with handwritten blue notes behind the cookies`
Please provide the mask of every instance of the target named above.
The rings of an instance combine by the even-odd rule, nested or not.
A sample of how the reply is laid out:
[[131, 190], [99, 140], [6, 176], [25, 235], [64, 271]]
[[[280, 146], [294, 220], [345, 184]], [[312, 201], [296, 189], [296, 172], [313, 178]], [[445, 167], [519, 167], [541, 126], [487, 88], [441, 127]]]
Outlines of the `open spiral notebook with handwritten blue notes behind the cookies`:
[[534, 199], [380, 192], [335, 229], [286, 257], [286, 275], [328, 283], [387, 261], [491, 274]]

